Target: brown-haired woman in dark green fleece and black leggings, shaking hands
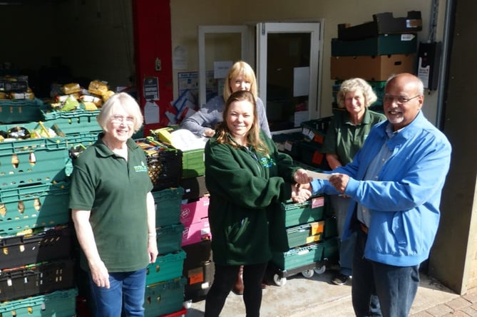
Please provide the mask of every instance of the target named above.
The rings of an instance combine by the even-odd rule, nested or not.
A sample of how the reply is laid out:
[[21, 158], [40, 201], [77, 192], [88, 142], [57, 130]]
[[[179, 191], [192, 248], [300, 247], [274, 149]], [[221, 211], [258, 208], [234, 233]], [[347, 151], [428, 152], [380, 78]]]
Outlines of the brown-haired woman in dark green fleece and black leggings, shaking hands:
[[240, 265], [247, 317], [260, 316], [262, 279], [272, 257], [269, 219], [280, 202], [308, 199], [311, 193], [298, 184], [310, 180], [260, 130], [255, 98], [245, 90], [227, 99], [223, 122], [205, 146], [205, 175], [215, 263], [205, 317], [219, 316]]

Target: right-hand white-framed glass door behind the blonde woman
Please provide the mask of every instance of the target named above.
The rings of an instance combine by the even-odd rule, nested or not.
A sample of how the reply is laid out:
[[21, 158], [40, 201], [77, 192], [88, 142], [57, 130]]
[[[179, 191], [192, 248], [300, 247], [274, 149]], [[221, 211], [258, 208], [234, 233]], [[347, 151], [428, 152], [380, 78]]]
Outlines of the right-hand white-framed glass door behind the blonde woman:
[[321, 23], [257, 24], [257, 81], [272, 132], [319, 118]]

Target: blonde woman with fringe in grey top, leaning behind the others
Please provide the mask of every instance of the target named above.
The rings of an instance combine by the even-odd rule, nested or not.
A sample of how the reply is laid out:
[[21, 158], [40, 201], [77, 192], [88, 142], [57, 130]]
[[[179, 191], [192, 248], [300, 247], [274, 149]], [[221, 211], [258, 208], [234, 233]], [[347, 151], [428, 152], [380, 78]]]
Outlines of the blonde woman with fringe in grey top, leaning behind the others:
[[217, 97], [207, 101], [197, 113], [183, 120], [180, 126], [190, 130], [195, 135], [212, 137], [215, 135], [215, 125], [222, 121], [222, 111], [224, 109], [225, 100], [238, 90], [247, 90], [254, 95], [257, 101], [257, 114], [260, 128], [271, 137], [265, 106], [257, 95], [257, 78], [255, 78], [255, 72], [245, 61], [237, 61], [232, 65], [227, 75], [227, 85], [224, 85], [223, 94], [217, 95]]

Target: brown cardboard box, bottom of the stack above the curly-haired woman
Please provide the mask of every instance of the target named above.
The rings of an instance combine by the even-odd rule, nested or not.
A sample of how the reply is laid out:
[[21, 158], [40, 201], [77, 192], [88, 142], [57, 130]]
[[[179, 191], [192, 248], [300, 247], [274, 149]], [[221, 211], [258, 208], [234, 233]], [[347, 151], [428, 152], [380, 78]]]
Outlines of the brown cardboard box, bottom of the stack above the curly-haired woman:
[[359, 77], [364, 80], [384, 81], [397, 73], [415, 73], [414, 59], [415, 54], [332, 56], [331, 79]]

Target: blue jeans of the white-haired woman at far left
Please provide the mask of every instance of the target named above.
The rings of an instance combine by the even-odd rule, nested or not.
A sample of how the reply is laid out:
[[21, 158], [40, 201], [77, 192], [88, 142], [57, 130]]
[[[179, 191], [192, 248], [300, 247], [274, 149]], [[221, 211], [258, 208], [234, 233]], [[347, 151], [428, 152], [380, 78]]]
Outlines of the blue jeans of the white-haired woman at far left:
[[106, 289], [94, 284], [89, 274], [93, 316], [95, 317], [143, 317], [145, 293], [145, 268], [133, 272], [109, 274]]

